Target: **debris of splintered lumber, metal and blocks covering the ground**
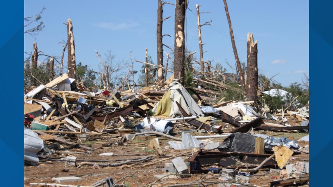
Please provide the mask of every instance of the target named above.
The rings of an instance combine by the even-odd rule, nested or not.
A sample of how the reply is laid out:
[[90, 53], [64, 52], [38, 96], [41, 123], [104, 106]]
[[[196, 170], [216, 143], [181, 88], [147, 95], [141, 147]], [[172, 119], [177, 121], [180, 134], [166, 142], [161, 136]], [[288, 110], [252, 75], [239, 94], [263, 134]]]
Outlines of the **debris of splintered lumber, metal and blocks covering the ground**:
[[73, 89], [75, 82], [64, 74], [25, 94], [26, 184], [309, 181], [303, 137], [308, 105], [270, 114], [251, 106], [253, 101], [208, 101], [171, 80], [162, 90], [128, 91], [88, 90], [78, 83]]

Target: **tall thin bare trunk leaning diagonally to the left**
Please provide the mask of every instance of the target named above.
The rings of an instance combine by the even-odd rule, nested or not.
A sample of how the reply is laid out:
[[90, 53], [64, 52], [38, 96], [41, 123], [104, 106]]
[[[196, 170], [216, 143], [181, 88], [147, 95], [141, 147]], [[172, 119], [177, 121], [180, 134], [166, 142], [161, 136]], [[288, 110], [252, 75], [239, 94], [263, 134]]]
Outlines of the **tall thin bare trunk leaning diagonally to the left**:
[[238, 68], [238, 73], [239, 73], [239, 78], [240, 78], [240, 84], [241, 84], [242, 89], [243, 89], [243, 94], [246, 94], [246, 87], [245, 87], [245, 82], [244, 82], [244, 76], [243, 76], [242, 68], [241, 68], [241, 65], [240, 65], [240, 62], [239, 62], [239, 58], [238, 58], [238, 54], [237, 54], [235, 39], [233, 37], [233, 31], [232, 31], [232, 25], [231, 25], [230, 15], [229, 15], [229, 11], [228, 11], [228, 5], [227, 5], [226, 0], [223, 0], [223, 2], [224, 2], [225, 13], [227, 15], [227, 19], [228, 19], [228, 23], [229, 23], [229, 30], [230, 30], [229, 32], [230, 32], [230, 38], [231, 38], [231, 45], [232, 45], [233, 54], [235, 55], [235, 60], [236, 60], [237, 68]]

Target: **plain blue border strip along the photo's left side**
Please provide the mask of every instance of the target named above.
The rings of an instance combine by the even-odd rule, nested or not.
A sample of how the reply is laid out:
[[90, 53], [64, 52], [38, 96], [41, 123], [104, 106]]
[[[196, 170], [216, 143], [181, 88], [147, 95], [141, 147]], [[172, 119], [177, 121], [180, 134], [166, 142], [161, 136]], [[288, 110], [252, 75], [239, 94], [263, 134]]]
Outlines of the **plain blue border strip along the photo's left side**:
[[1, 186], [24, 184], [24, 1], [2, 1], [1, 57]]

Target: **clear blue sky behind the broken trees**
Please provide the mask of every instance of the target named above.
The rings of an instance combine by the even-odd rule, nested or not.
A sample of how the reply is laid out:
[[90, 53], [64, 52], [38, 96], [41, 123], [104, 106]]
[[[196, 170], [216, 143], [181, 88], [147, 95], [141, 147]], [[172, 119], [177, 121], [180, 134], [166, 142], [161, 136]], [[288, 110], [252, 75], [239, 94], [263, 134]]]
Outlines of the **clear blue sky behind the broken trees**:
[[[156, 63], [157, 2], [26, 0], [25, 17], [37, 14], [43, 6], [46, 10], [42, 14], [45, 28], [36, 39], [27, 34], [24, 36], [24, 51], [31, 52], [33, 42], [37, 42], [39, 51], [60, 57], [62, 45], [59, 42], [67, 41], [67, 27], [63, 23], [71, 18], [77, 63], [82, 62], [98, 70], [99, 60], [95, 50], [102, 58], [111, 50], [116, 55], [115, 60], [129, 60], [129, 54], [133, 51], [132, 59], [144, 61], [146, 48]], [[283, 86], [291, 82], [301, 83], [303, 73], [309, 73], [309, 2], [229, 0], [227, 3], [240, 61], [246, 62], [247, 32], [253, 33], [254, 40], [258, 41], [259, 73], [269, 73], [268, 77], [279, 73], [274, 79]], [[235, 58], [222, 0], [189, 0], [188, 8], [192, 12], [186, 12], [187, 49], [197, 51], [198, 59], [195, 4], [201, 4], [200, 12], [212, 11], [201, 14], [202, 21], [213, 20], [213, 26], [203, 26], [201, 29], [202, 42], [205, 43], [203, 51], [207, 51], [204, 60], [220, 61], [228, 72], [234, 73], [224, 63], [227, 60], [234, 65]], [[164, 43], [173, 48], [174, 6], [166, 4], [163, 17], [168, 16], [171, 18], [163, 22], [163, 34], [169, 34], [172, 38], [164, 37]], [[169, 52], [166, 47], [164, 50]], [[67, 52], [64, 59], [67, 59]], [[135, 69], [140, 70], [141, 66], [135, 63]]]

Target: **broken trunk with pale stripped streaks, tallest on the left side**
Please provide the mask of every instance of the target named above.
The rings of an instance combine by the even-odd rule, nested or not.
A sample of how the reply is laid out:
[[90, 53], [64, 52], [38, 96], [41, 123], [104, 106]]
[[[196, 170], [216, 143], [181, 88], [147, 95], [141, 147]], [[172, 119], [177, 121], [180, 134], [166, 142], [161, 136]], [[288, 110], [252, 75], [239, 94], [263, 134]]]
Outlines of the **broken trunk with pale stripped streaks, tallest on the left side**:
[[[68, 52], [68, 77], [76, 79], [76, 64], [75, 64], [75, 44], [73, 35], [72, 20], [67, 20], [67, 52]], [[74, 85], [73, 85], [74, 86]]]

